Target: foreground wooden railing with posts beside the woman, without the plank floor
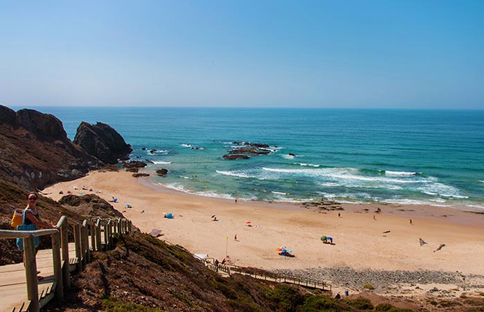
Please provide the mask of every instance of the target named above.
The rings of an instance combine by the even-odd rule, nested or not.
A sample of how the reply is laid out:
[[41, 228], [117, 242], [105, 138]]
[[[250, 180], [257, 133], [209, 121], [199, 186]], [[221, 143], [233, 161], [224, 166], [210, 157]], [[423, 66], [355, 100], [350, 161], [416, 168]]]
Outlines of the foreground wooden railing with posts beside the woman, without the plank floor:
[[[69, 225], [74, 229], [74, 244], [76, 246], [76, 258], [74, 268], [82, 271], [86, 264], [91, 261], [91, 250], [101, 251], [112, 248], [112, 234], [125, 234], [131, 231], [131, 221], [117, 218], [84, 220], [82, 224], [71, 222], [66, 216], [62, 216], [57, 223], [58, 229], [39, 229], [37, 231], [10, 231], [0, 229], [0, 239], [23, 239], [24, 241], [24, 265], [26, 272], [27, 297], [30, 301], [28, 311], [40, 311], [39, 291], [37, 281], [37, 261], [35, 259], [34, 238], [51, 235], [52, 258], [55, 298], [63, 300], [64, 291], [70, 288], [71, 266], [69, 263]], [[104, 244], [101, 243], [101, 232], [104, 233]], [[89, 236], [91, 243], [89, 247]], [[62, 259], [62, 260], [61, 260]], [[50, 300], [51, 298], [49, 298]], [[48, 302], [49, 300], [46, 300]], [[45, 303], [46, 303], [45, 302]]]

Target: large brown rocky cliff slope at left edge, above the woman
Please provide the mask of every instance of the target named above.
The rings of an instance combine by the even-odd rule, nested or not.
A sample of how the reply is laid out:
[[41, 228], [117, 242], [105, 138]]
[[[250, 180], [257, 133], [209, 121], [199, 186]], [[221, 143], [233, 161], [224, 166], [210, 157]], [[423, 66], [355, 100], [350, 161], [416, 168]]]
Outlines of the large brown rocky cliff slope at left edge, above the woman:
[[[13, 114], [12, 114], [13, 113]], [[21, 189], [82, 177], [103, 162], [73, 144], [50, 114], [0, 105], [0, 178]]]

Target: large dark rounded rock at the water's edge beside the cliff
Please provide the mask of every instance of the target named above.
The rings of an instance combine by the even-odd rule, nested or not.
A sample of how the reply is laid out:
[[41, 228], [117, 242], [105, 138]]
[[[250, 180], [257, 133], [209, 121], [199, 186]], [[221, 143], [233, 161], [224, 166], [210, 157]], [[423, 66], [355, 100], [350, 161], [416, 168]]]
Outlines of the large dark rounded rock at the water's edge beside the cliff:
[[89, 155], [94, 155], [106, 164], [116, 164], [118, 159], [128, 159], [126, 155], [132, 151], [123, 137], [105, 123], [81, 123], [74, 144], [78, 144]]

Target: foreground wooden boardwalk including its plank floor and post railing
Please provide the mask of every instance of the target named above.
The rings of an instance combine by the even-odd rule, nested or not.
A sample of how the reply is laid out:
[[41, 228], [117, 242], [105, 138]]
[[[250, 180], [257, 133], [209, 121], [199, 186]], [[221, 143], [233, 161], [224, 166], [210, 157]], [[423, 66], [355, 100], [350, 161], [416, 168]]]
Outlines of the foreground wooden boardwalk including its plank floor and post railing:
[[[58, 229], [0, 229], [0, 239], [24, 240], [26, 263], [26, 266], [24, 263], [0, 266], [0, 312], [37, 312], [54, 297], [63, 300], [64, 291], [71, 285], [71, 272], [82, 271], [90, 262], [91, 252], [114, 247], [114, 233], [122, 235], [131, 230], [131, 221], [125, 218], [92, 219], [81, 224], [62, 216]], [[69, 232], [74, 234], [74, 243], [69, 243]], [[53, 250], [39, 250], [35, 254], [34, 238], [46, 235], [51, 236]], [[37, 280], [35, 269], [43, 279]]]

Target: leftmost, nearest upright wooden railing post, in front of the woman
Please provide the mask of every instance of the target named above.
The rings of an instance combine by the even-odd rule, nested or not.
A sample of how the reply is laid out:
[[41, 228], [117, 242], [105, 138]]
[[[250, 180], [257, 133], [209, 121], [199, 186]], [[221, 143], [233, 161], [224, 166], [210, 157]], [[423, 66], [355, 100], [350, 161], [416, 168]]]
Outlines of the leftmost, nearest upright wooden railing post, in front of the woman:
[[29, 311], [38, 312], [39, 306], [39, 285], [37, 281], [37, 263], [35, 262], [34, 236], [24, 239], [24, 261], [25, 275], [27, 279], [27, 298], [31, 300]]

